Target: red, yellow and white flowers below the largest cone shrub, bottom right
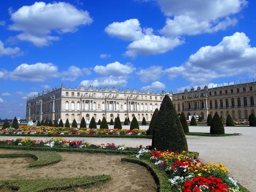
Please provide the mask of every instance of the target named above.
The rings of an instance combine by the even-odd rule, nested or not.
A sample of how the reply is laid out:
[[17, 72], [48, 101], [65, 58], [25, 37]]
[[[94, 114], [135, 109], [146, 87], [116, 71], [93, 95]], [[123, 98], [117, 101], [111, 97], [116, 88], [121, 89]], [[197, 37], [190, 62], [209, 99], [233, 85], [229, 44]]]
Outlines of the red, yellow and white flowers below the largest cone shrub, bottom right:
[[230, 177], [226, 166], [202, 163], [194, 153], [183, 151], [179, 154], [141, 148], [136, 157], [162, 170], [169, 178], [171, 191], [246, 191]]

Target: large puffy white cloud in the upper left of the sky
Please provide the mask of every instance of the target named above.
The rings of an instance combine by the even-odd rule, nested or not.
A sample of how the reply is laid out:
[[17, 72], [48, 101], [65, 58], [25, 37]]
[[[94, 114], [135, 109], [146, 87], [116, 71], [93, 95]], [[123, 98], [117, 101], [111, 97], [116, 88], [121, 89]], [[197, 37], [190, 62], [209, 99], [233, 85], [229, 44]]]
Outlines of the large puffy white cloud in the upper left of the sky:
[[53, 32], [74, 33], [78, 26], [90, 25], [92, 18], [89, 12], [78, 10], [65, 2], [35, 2], [30, 6], [22, 6], [18, 11], [11, 12], [10, 30], [22, 31], [17, 37], [29, 41], [36, 46], [49, 45], [57, 41]]

